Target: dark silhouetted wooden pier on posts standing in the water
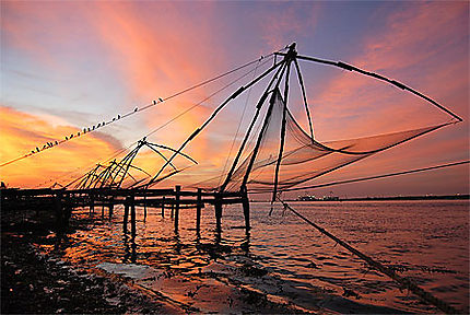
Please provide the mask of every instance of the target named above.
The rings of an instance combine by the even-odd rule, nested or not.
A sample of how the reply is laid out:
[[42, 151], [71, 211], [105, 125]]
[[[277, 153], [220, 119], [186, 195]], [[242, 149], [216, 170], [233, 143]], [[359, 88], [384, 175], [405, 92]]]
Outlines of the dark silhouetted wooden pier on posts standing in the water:
[[[195, 209], [195, 228], [200, 233], [201, 212], [205, 205], [214, 208], [215, 229], [222, 231], [223, 206], [239, 203], [245, 218], [245, 229], [248, 232], [249, 201], [247, 192], [208, 192], [197, 190], [181, 190], [180, 186], [174, 189], [125, 189], [125, 188], [90, 188], [90, 189], [1, 189], [1, 211], [50, 211], [55, 213], [57, 231], [62, 232], [69, 224], [70, 217], [75, 208], [87, 207], [90, 213], [101, 207], [102, 217], [114, 215], [116, 205], [124, 206], [124, 232], [128, 232], [130, 217], [131, 234], [136, 235], [136, 206], [143, 208], [146, 219], [148, 208], [161, 209], [162, 218], [165, 210], [171, 210], [175, 231], [179, 229], [179, 211], [181, 209]], [[107, 213], [106, 213], [107, 212]]]

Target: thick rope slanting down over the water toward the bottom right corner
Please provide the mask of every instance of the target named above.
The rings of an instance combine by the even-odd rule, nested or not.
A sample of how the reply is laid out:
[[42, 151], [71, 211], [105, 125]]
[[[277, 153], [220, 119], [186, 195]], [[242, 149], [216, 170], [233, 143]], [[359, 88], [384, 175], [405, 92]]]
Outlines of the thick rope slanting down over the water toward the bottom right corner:
[[361, 258], [362, 260], [364, 260], [365, 262], [367, 262], [372, 268], [374, 268], [374, 269], [380, 271], [381, 273], [390, 277], [392, 280], [395, 280], [396, 282], [398, 282], [401, 287], [410, 290], [415, 295], [418, 295], [419, 298], [421, 298], [423, 301], [425, 301], [425, 302], [427, 302], [427, 303], [436, 306], [438, 310], [440, 310], [440, 311], [443, 311], [443, 312], [445, 312], [447, 314], [458, 314], [459, 313], [456, 308], [454, 308], [453, 306], [450, 306], [446, 302], [437, 299], [436, 296], [434, 296], [430, 292], [427, 292], [427, 291], [423, 290], [422, 288], [418, 287], [416, 284], [414, 284], [410, 279], [398, 276], [392, 269], [388, 268], [387, 266], [384, 266], [383, 264], [378, 262], [377, 260], [375, 260], [375, 259], [371, 258], [369, 256], [363, 254], [359, 249], [356, 249], [356, 248], [352, 247], [351, 245], [349, 245], [346, 242], [338, 238], [337, 236], [334, 236], [333, 234], [329, 233], [324, 228], [317, 225], [315, 222], [308, 220], [307, 218], [305, 218], [304, 215], [302, 215], [299, 212], [297, 212], [294, 208], [292, 208], [291, 206], [289, 206], [286, 202], [284, 202], [283, 200], [279, 199], [279, 197], [278, 197], [278, 200], [284, 206], [284, 209], [291, 210], [292, 213], [294, 213], [295, 215], [297, 215], [298, 218], [301, 218], [303, 221], [305, 221], [306, 223], [308, 223], [309, 225], [312, 225], [313, 228], [315, 228], [316, 230], [318, 230], [321, 234], [328, 236], [329, 238], [333, 240], [337, 244], [340, 244], [342, 247], [344, 247], [345, 249], [348, 249], [352, 254], [356, 255], [359, 258]]

